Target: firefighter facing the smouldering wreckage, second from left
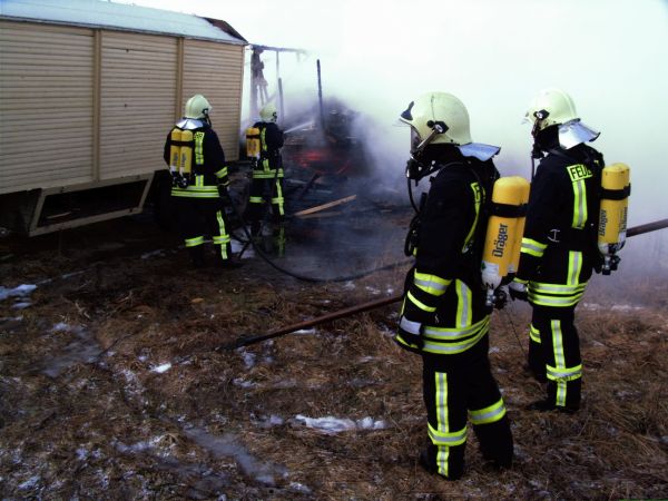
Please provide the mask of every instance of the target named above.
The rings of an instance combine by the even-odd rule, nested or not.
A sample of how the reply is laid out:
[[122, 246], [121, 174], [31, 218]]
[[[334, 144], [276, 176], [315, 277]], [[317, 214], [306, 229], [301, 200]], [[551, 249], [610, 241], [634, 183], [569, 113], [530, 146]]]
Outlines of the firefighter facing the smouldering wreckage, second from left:
[[276, 125], [278, 114], [272, 102], [259, 110], [259, 118], [261, 121], [253, 125], [259, 129], [259, 159], [253, 165], [246, 219], [250, 223], [252, 235], [259, 235], [265, 200], [268, 198], [272, 206], [274, 237], [283, 240], [285, 220], [284, 174], [281, 157], [283, 131]]

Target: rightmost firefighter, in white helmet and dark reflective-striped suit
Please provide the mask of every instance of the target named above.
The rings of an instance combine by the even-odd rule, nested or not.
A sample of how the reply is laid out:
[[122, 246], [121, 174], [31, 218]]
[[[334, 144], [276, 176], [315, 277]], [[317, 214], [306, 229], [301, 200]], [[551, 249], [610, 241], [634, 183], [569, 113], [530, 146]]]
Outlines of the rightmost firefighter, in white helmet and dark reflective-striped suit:
[[533, 125], [533, 158], [527, 222], [511, 297], [532, 305], [528, 369], [547, 383], [537, 411], [576, 412], [580, 406], [582, 360], [576, 306], [592, 271], [597, 248], [600, 177], [603, 157], [584, 143], [599, 132], [580, 121], [563, 90], [540, 91], [525, 114]]

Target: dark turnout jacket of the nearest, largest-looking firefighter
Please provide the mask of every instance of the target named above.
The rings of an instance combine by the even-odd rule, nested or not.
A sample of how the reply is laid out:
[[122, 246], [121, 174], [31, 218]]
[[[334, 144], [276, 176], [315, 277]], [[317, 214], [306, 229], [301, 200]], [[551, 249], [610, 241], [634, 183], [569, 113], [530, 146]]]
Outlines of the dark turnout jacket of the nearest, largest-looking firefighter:
[[419, 215], [415, 265], [406, 276], [395, 341], [411, 351], [451, 355], [489, 331], [480, 266], [485, 200], [499, 173], [491, 159], [460, 156], [442, 165]]

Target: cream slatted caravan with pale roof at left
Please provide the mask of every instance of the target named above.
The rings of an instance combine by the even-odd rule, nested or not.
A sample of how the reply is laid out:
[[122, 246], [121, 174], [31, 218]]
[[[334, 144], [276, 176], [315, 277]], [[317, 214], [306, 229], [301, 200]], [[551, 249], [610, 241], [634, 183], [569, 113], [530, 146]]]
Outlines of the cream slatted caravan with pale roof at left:
[[140, 212], [194, 94], [238, 159], [246, 46], [196, 16], [0, 0], [0, 226], [38, 235]]

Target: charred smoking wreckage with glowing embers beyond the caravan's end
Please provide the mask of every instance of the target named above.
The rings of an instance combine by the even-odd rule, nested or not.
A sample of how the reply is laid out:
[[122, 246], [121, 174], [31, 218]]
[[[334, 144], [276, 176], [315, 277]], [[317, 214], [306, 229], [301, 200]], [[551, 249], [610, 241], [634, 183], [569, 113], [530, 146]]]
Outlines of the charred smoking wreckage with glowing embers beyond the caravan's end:
[[[284, 197], [288, 217], [324, 218], [340, 214], [350, 202], [361, 202], [361, 179], [371, 175], [371, 159], [362, 140], [362, 114], [336, 98], [323, 98], [321, 63], [317, 68], [317, 96], [295, 97], [284, 89], [281, 56], [296, 56], [299, 68], [311, 59], [299, 49], [253, 46], [250, 50], [250, 119], [266, 102], [278, 110], [278, 125], [284, 131], [282, 148], [285, 171]], [[275, 81], [267, 81], [265, 62], [275, 58]], [[287, 91], [286, 91], [287, 90]], [[308, 94], [306, 92], [306, 96]], [[245, 130], [242, 137], [244, 147]], [[245, 170], [245, 161], [239, 161]], [[242, 188], [243, 189], [243, 188]], [[243, 205], [243, 195], [237, 195]], [[336, 207], [336, 212], [333, 208]]]

